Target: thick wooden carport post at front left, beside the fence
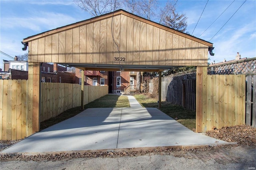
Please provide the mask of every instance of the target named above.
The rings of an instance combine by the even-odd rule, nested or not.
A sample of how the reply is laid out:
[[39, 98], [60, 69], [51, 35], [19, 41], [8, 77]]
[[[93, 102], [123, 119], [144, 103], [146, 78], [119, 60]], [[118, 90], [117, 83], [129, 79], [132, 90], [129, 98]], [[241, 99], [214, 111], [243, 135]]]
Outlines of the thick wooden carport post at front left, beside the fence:
[[28, 63], [27, 136], [40, 130], [40, 63]]

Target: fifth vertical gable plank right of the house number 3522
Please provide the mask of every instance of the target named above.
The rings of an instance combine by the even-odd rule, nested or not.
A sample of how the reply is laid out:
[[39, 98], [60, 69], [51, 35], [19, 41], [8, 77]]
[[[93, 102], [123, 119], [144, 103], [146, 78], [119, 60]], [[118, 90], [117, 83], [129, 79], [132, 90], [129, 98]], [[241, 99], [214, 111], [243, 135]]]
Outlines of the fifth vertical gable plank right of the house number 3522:
[[153, 27], [153, 61], [152, 65], [159, 65], [159, 33], [157, 27]]

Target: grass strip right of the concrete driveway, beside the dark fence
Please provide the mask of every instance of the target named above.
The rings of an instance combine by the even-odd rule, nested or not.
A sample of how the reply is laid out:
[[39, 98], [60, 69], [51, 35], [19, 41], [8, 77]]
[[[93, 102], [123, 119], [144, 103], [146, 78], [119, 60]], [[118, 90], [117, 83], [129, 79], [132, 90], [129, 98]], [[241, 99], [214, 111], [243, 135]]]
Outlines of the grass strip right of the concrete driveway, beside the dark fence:
[[[158, 107], [158, 99], [152, 99], [146, 95], [134, 95], [136, 100], [143, 107]], [[177, 119], [179, 123], [189, 128], [190, 130], [196, 130], [196, 112], [190, 109], [184, 109], [180, 105], [172, 105], [169, 102], [162, 102], [160, 111], [173, 119]]]

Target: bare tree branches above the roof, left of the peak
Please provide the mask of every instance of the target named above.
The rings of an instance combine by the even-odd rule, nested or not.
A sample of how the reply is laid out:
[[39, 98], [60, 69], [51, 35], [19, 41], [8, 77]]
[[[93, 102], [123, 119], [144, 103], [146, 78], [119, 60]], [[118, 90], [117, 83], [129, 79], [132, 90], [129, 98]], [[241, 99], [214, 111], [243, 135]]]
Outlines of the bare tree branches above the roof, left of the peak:
[[100, 16], [114, 9], [120, 8], [120, 1], [118, 0], [73, 0], [82, 10], [85, 10], [91, 16]]

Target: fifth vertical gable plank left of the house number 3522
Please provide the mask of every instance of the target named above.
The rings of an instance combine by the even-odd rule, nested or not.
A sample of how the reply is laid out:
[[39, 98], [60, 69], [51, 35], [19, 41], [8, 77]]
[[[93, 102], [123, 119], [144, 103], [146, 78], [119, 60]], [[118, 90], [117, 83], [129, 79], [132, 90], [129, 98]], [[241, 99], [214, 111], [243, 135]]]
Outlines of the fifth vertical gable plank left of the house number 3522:
[[86, 25], [80, 26], [79, 63], [86, 63]]

